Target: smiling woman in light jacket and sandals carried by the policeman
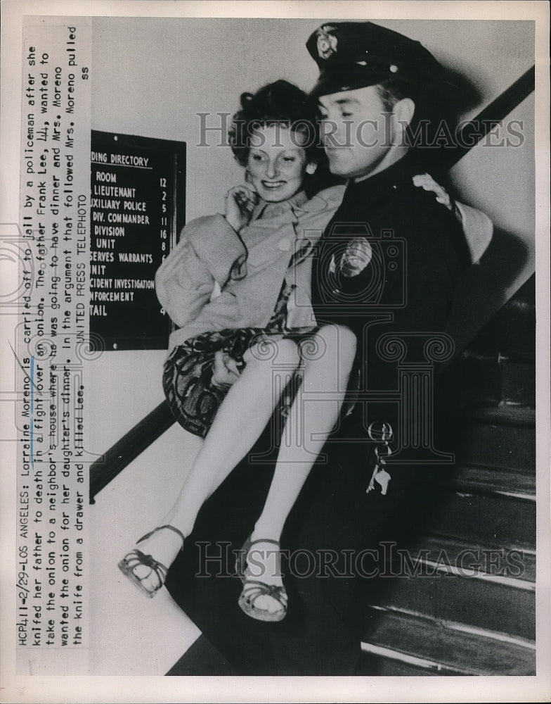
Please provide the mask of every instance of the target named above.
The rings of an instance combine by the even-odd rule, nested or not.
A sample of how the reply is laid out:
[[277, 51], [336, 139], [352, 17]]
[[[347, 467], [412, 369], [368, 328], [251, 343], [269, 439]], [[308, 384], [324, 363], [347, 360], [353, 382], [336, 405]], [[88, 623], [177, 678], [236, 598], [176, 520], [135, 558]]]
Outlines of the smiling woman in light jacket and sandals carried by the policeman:
[[[316, 114], [306, 94], [285, 81], [243, 94], [241, 103], [230, 142], [249, 185], [228, 191], [224, 216], [186, 225], [156, 275], [157, 296], [179, 326], [169, 342], [164, 391], [176, 420], [204, 441], [169, 513], [119, 567], [155, 595], [203, 503], [252, 448], [299, 372], [303, 389], [318, 392], [319, 400], [308, 413], [299, 395], [290, 403], [266, 503], [237, 563], [242, 610], [278, 621], [287, 610], [280, 534], [338, 420], [356, 338], [346, 327], [316, 327], [310, 305], [313, 248], [344, 192], [337, 186], [309, 199], [304, 191], [323, 156]], [[430, 177], [415, 182], [451, 208]], [[458, 217], [471, 251], [480, 251], [491, 223], [465, 206]], [[323, 353], [305, 353], [304, 341]], [[247, 561], [253, 553], [257, 572]]]

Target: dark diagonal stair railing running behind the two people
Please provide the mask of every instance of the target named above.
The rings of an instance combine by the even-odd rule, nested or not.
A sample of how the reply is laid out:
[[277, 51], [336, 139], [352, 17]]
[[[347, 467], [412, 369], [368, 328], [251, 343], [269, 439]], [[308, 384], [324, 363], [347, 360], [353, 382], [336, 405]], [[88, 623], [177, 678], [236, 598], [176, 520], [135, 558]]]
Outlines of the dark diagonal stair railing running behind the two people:
[[[463, 125], [457, 144], [452, 148], [442, 149], [439, 153], [439, 168], [448, 170], [458, 163], [486, 134], [517, 108], [535, 88], [536, 67], [532, 66], [521, 77], [492, 101], [477, 117]], [[160, 403], [145, 416], [127, 434], [108, 449], [90, 467], [90, 503], [94, 497], [122, 472], [138, 455], [148, 448], [157, 438], [174, 425], [166, 401]]]

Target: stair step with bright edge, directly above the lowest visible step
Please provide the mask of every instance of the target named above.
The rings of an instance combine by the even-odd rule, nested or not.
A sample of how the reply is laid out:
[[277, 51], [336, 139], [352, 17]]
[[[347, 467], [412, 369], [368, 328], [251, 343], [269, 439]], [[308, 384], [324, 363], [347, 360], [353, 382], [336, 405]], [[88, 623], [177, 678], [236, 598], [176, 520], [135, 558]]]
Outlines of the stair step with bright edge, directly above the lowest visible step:
[[[408, 562], [398, 554], [391, 571], [396, 576], [384, 577], [375, 597], [378, 605], [536, 637], [533, 553], [424, 536], [407, 548]], [[372, 593], [368, 598], [373, 599]]]

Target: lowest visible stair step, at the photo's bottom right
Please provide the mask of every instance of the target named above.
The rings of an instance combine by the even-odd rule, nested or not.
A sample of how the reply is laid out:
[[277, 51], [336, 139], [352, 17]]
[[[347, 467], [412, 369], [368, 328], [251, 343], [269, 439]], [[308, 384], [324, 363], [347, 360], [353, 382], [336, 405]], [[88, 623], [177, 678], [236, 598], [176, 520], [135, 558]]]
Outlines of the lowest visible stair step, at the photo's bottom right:
[[371, 607], [370, 614], [372, 627], [362, 650], [378, 658], [410, 665], [420, 672], [536, 674], [533, 641], [408, 610]]

